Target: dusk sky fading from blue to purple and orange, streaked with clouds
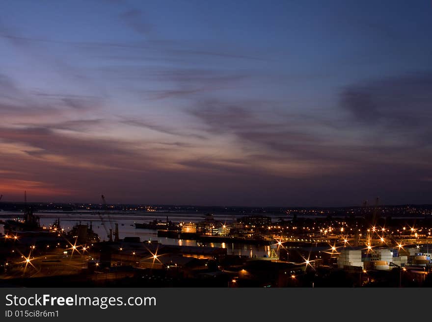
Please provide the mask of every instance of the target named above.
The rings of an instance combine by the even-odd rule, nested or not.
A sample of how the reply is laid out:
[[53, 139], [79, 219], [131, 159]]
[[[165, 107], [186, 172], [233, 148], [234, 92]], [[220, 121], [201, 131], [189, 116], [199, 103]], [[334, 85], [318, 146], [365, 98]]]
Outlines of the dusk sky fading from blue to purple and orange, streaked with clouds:
[[2, 201], [432, 203], [432, 2], [5, 1]]

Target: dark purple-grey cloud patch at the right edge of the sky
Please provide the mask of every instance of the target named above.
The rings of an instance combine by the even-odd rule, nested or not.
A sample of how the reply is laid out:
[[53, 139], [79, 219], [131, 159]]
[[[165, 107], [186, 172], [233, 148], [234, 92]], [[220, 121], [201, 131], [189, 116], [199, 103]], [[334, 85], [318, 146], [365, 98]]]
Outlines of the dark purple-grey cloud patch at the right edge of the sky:
[[[376, 128], [411, 138], [415, 144], [432, 143], [432, 74], [412, 73], [347, 87], [341, 106], [351, 124]], [[384, 134], [385, 135], [385, 134]]]

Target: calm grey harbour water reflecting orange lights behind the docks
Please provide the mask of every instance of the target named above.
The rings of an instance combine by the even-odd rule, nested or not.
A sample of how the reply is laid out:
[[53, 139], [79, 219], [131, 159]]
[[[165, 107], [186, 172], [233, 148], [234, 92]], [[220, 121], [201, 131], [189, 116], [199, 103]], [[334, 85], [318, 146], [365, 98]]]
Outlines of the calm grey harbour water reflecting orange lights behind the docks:
[[[4, 215], [10, 214], [9, 219], [18, 218], [22, 214], [20, 213], [6, 213]], [[108, 221], [108, 217], [103, 215], [104, 221], [102, 222], [98, 215], [93, 215], [92, 213], [37, 213], [40, 217], [40, 224], [49, 226], [53, 224], [54, 221], [59, 218], [60, 225], [66, 230], [70, 230], [75, 224], [93, 224], [93, 230], [101, 237], [101, 240], [108, 240], [107, 232], [104, 228], [104, 223], [109, 230], [112, 224], [112, 230], [114, 231], [115, 223], [118, 223], [119, 237], [140, 237], [141, 241], [144, 240], [157, 240], [164, 245], [183, 245], [183, 246], [208, 246], [208, 247], [222, 247], [227, 248], [228, 254], [233, 255], [246, 255], [249, 257], [257, 256], [262, 257], [264, 255], [270, 254], [270, 246], [257, 246], [257, 245], [243, 245], [234, 243], [200, 243], [194, 240], [186, 239], [173, 239], [167, 237], [158, 237], [156, 230], [151, 229], [136, 229], [135, 222], [137, 223], [147, 223], [153, 221], [154, 219], [164, 220], [166, 215], [158, 214], [139, 214], [139, 215], [120, 215], [120, 214], [110, 214], [111, 223]], [[174, 214], [168, 217], [168, 220], [173, 222], [199, 222], [202, 221], [203, 216], [197, 216], [194, 214]], [[232, 216], [217, 216], [215, 215], [215, 220], [230, 223], [232, 222]], [[4, 233], [3, 225], [0, 225], [0, 232]]]

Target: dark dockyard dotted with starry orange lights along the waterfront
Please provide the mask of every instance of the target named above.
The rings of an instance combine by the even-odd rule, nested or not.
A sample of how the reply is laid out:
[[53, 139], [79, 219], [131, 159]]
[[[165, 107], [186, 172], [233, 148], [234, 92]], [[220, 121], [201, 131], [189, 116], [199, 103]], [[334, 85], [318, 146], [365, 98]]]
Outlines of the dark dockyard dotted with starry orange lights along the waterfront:
[[[165, 216], [130, 227], [118, 220], [122, 217], [107, 214], [106, 208], [96, 214], [100, 222], [80, 221], [73, 227], [62, 227], [59, 218], [41, 225], [43, 213], [36, 215], [30, 206], [16, 218], [2, 219], [0, 282], [319, 287], [328, 286], [333, 278], [340, 285], [341, 276], [344, 286], [350, 287], [430, 282], [432, 238], [427, 216], [390, 220], [371, 209], [370, 216], [355, 218], [274, 221], [256, 214], [220, 221], [208, 213], [195, 222], [175, 222]], [[95, 232], [101, 226], [105, 234]], [[152, 230], [156, 238], [122, 234], [131, 229]], [[168, 238], [174, 241], [171, 245], [163, 243]], [[264, 252], [237, 254], [234, 246], [261, 247]]]

